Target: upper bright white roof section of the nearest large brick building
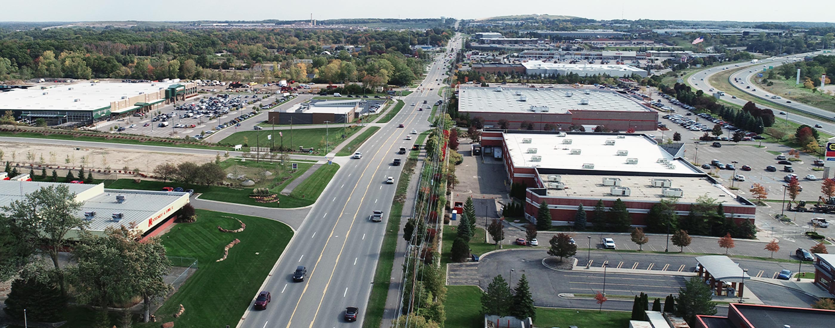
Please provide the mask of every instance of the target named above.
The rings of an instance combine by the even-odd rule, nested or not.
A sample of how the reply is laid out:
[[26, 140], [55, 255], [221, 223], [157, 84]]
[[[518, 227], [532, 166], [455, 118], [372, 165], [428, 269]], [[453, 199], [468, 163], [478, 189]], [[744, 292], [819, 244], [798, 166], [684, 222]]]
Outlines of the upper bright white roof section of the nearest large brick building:
[[[516, 167], [535, 165], [543, 169], [582, 170], [589, 174], [595, 174], [595, 171], [704, 174], [684, 160], [675, 159], [644, 134], [566, 134], [560, 137], [559, 134], [511, 133], [504, 134], [504, 144], [509, 152], [506, 155]], [[532, 160], [534, 156], [539, 156], [539, 161]], [[630, 163], [630, 159], [636, 162]], [[664, 161], [671, 165], [662, 163]], [[594, 168], [584, 168], [584, 164], [593, 164]]]

